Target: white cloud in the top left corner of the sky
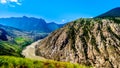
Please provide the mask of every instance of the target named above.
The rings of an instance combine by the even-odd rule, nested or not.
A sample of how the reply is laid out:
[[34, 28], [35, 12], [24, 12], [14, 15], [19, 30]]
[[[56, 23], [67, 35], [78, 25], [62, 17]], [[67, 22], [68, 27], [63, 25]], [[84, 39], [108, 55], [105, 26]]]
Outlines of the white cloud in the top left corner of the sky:
[[0, 0], [0, 4], [6, 4], [9, 5], [10, 7], [15, 7], [16, 5], [22, 5], [20, 0]]

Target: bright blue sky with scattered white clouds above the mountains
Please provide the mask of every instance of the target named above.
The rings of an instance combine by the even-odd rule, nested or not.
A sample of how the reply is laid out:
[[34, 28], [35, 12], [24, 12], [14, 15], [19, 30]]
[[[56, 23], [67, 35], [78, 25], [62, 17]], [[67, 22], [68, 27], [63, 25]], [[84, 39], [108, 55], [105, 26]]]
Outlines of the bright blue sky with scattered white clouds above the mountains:
[[120, 7], [120, 0], [0, 0], [0, 17], [36, 17], [66, 23]]

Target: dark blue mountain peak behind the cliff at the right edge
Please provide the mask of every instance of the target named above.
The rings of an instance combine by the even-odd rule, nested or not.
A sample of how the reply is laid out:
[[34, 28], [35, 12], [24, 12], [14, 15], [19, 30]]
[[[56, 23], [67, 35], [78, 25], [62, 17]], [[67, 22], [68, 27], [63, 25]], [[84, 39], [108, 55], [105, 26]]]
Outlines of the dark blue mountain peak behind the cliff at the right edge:
[[113, 8], [97, 17], [120, 17], [120, 7]]

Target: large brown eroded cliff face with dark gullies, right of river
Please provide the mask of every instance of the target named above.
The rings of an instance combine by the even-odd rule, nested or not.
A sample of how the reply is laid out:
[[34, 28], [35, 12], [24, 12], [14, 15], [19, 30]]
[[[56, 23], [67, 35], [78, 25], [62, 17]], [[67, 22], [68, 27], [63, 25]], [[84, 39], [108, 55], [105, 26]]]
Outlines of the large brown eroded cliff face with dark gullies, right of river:
[[120, 19], [73, 21], [43, 39], [36, 54], [96, 68], [120, 68]]

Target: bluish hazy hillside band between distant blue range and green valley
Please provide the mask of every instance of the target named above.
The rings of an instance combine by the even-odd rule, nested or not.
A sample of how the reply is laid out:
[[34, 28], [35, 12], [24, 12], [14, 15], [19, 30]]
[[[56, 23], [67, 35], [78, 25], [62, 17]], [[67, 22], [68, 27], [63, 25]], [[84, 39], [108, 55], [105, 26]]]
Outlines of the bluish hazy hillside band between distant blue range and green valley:
[[[0, 24], [0, 38], [7, 37], [8, 40], [13, 40], [15, 37], [29, 38], [33, 41], [42, 39], [48, 35], [48, 33], [34, 33], [23, 31], [10, 26], [3, 26]], [[5, 39], [5, 38], [4, 38]]]

